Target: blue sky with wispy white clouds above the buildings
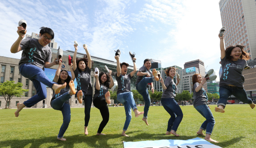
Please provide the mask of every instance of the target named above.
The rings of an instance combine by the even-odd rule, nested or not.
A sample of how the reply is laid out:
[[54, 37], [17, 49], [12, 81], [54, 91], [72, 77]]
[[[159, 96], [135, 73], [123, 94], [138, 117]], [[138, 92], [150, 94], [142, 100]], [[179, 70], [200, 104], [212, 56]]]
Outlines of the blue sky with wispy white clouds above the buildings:
[[[0, 55], [20, 59], [10, 53], [18, 38], [17, 26], [27, 21], [27, 34], [40, 27], [54, 31], [55, 42], [64, 50], [114, 59], [120, 49], [120, 61], [132, 64], [129, 51], [135, 52], [137, 67], [144, 59], [162, 61], [162, 67], [195, 59], [204, 61], [207, 70], [220, 69], [218, 32], [222, 27], [218, 0], [20, 0], [0, 1]], [[218, 78], [217, 78], [218, 80]]]

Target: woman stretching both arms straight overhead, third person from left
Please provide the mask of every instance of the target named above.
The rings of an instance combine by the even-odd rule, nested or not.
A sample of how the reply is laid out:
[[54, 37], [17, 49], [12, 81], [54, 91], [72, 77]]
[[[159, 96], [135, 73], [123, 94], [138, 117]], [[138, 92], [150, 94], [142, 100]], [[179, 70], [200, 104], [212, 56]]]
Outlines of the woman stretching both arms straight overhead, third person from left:
[[92, 83], [91, 83], [91, 69], [93, 61], [90, 53], [87, 49], [87, 45], [84, 44], [84, 50], [86, 54], [82, 58], [76, 58], [77, 45], [74, 45], [75, 52], [73, 55], [73, 69], [76, 76], [77, 91], [82, 90], [82, 95], [76, 94], [79, 103], [84, 100], [84, 134], [88, 135], [87, 126], [90, 120], [90, 111], [92, 105]]

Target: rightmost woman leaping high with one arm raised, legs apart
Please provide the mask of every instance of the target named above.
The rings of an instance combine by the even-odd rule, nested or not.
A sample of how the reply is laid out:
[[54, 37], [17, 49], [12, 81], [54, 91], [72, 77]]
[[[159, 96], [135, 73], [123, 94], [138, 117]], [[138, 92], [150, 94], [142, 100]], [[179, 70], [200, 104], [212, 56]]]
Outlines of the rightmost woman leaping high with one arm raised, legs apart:
[[247, 97], [244, 90], [243, 69], [250, 69], [246, 60], [250, 58], [250, 54], [244, 51], [243, 45], [232, 45], [226, 48], [224, 46], [224, 36], [220, 36], [220, 59], [222, 66], [222, 75], [220, 77], [220, 99], [216, 112], [225, 112], [228, 97], [234, 95], [243, 103], [248, 103], [253, 109], [255, 107], [252, 99]]

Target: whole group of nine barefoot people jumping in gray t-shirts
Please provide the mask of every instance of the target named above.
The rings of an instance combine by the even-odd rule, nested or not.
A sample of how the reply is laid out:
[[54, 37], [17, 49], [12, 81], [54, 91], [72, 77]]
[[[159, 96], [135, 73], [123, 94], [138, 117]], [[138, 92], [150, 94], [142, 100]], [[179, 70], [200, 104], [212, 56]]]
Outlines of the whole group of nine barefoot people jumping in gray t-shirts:
[[[72, 77], [68, 75], [68, 71], [61, 70], [62, 59], [56, 58], [51, 63], [52, 51], [48, 44], [54, 38], [54, 32], [47, 27], [40, 28], [39, 39], [28, 38], [23, 39], [25, 34], [21, 33], [26, 31], [26, 28], [22, 26], [18, 27], [17, 33], [19, 35], [18, 39], [13, 43], [10, 51], [12, 53], [17, 53], [22, 51], [22, 57], [19, 62], [19, 70], [23, 77], [30, 79], [36, 88], [36, 95], [24, 101], [24, 103], [17, 104], [17, 110], [15, 116], [19, 116], [19, 112], [24, 107], [32, 107], [39, 101], [46, 98], [47, 91], [46, 86], [52, 88], [54, 91], [50, 105], [53, 109], [62, 111], [63, 123], [60, 127], [59, 134], [57, 136], [58, 140], [66, 140], [63, 138], [65, 131], [68, 128], [71, 118], [69, 99], [72, 95], [78, 99], [79, 103], [84, 101], [84, 134], [88, 135], [88, 123], [90, 120], [90, 108], [92, 102], [94, 106], [100, 110], [102, 115], [102, 122], [97, 131], [97, 135], [105, 135], [102, 130], [106, 126], [109, 120], [108, 104], [110, 104], [110, 92], [108, 89], [114, 86], [114, 80], [112, 75], [115, 75], [116, 81], [118, 83], [117, 89], [117, 101], [124, 104], [126, 120], [124, 122], [124, 127], [122, 131], [122, 136], [128, 136], [125, 134], [132, 118], [132, 111], [134, 111], [135, 117], [143, 114], [142, 120], [148, 124], [148, 110], [150, 107], [150, 95], [148, 92], [148, 87], [150, 86], [152, 93], [154, 93], [154, 85], [152, 82], [159, 81], [164, 89], [162, 93], [161, 103], [164, 109], [170, 114], [170, 119], [168, 120], [166, 135], [176, 133], [178, 126], [183, 118], [183, 113], [174, 100], [177, 94], [177, 85], [180, 83], [180, 79], [176, 77], [176, 83], [174, 83], [174, 77], [176, 76], [176, 69], [174, 67], [169, 67], [166, 69], [165, 81], [160, 76], [159, 71], [156, 69], [150, 70], [151, 61], [150, 59], [144, 60], [144, 65], [140, 67], [137, 73], [136, 58], [131, 52], [130, 57], [133, 61], [134, 70], [131, 73], [128, 71], [128, 63], [120, 63], [120, 50], [116, 51], [115, 59], [117, 63], [116, 73], [112, 73], [111, 70], [107, 69], [106, 72], [99, 72], [95, 68], [96, 82], [94, 84], [94, 96], [92, 97], [92, 83], [91, 83], [91, 71], [93, 67], [93, 61], [88, 52], [87, 46], [84, 45], [83, 48], [86, 54], [82, 58], [77, 58], [77, 44], [74, 45], [75, 51], [73, 55], [73, 63], [70, 64], [70, 71]], [[227, 99], [230, 95], [234, 95], [236, 98], [244, 103], [248, 103], [253, 109], [255, 107], [252, 100], [247, 97], [246, 92], [243, 88], [244, 76], [242, 75], [242, 70], [249, 68], [246, 60], [249, 59], [249, 54], [244, 51], [243, 45], [233, 45], [224, 48], [224, 36], [220, 36], [220, 50], [221, 50], [221, 64], [223, 73], [220, 77], [220, 99], [218, 102], [218, 107], [215, 108], [216, 112], [224, 112], [226, 107]], [[22, 40], [23, 39], [23, 40]], [[49, 68], [53, 65], [58, 65], [56, 74], [53, 81], [50, 81], [44, 73], [44, 67]], [[136, 103], [133, 98], [133, 94], [130, 91], [130, 80], [137, 73], [136, 89], [144, 99], [145, 106], [144, 111], [138, 111]], [[74, 79], [77, 81], [77, 88], [75, 90]], [[203, 130], [206, 130], [205, 140], [210, 142], [218, 142], [210, 138], [212, 130], [214, 128], [215, 120], [208, 106], [208, 96], [203, 88], [206, 78], [202, 78], [200, 74], [194, 74], [192, 76], [193, 82], [193, 94], [194, 94], [194, 108], [206, 118], [199, 128], [197, 134], [203, 134]]]

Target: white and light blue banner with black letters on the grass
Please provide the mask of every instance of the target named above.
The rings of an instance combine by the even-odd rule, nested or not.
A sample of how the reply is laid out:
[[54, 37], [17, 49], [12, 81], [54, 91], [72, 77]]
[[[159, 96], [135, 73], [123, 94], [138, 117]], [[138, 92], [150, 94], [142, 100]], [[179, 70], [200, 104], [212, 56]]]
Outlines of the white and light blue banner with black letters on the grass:
[[194, 138], [189, 140], [155, 140], [155, 141], [138, 141], [124, 142], [124, 148], [221, 148], [210, 142]]

